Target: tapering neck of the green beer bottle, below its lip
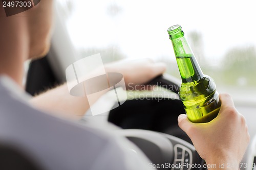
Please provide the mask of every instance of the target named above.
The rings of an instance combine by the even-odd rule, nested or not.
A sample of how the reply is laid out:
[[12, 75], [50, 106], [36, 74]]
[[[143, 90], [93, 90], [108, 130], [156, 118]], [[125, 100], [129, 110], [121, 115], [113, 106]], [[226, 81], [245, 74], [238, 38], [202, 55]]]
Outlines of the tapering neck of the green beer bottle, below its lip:
[[204, 77], [203, 72], [184, 36], [172, 38], [174, 53], [182, 83], [190, 83]]

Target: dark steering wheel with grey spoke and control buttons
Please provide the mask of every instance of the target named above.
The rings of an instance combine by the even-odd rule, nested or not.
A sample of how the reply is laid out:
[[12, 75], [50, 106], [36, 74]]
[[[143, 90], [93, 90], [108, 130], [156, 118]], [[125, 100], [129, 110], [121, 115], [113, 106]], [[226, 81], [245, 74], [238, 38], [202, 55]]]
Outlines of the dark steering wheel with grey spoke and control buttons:
[[[169, 75], [156, 77], [147, 84], [158, 85], [174, 94], [181, 81]], [[185, 110], [181, 100], [151, 98], [128, 100], [109, 113], [109, 122], [119, 126], [121, 135], [132, 141], [158, 169], [206, 169], [177, 118]]]

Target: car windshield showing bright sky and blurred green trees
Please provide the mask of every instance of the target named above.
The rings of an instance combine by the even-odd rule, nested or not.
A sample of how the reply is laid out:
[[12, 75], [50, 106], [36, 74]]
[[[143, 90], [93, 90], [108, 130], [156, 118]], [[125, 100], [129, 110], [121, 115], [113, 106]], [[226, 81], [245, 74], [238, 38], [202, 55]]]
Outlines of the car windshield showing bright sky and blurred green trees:
[[77, 52], [104, 62], [152, 58], [180, 78], [167, 29], [179, 24], [204, 74], [236, 104], [255, 105], [253, 1], [58, 0]]

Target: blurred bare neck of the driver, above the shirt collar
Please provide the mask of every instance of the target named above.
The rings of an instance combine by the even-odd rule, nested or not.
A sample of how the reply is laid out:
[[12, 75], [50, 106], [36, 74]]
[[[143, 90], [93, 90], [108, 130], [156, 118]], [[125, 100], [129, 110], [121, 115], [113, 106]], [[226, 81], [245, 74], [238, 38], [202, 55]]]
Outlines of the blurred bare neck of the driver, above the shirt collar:
[[[17, 18], [22, 20], [21, 18]], [[3, 21], [3, 20], [2, 20]], [[0, 74], [7, 75], [22, 86], [24, 61], [28, 57], [28, 37], [18, 22], [2, 22], [0, 28]], [[16, 27], [15, 27], [15, 26]]]

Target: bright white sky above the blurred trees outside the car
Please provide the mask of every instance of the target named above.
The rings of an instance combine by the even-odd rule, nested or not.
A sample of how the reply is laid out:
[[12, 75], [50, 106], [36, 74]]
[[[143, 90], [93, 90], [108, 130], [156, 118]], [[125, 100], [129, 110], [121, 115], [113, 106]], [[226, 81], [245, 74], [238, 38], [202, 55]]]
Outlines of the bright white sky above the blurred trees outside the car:
[[[62, 0], [61, 0], [62, 1]], [[63, 2], [63, 1], [62, 1]], [[118, 45], [130, 58], [174, 56], [166, 30], [202, 34], [206, 57], [222, 58], [238, 46], [256, 46], [255, 3], [244, 1], [76, 0], [67, 20], [77, 48]]]

